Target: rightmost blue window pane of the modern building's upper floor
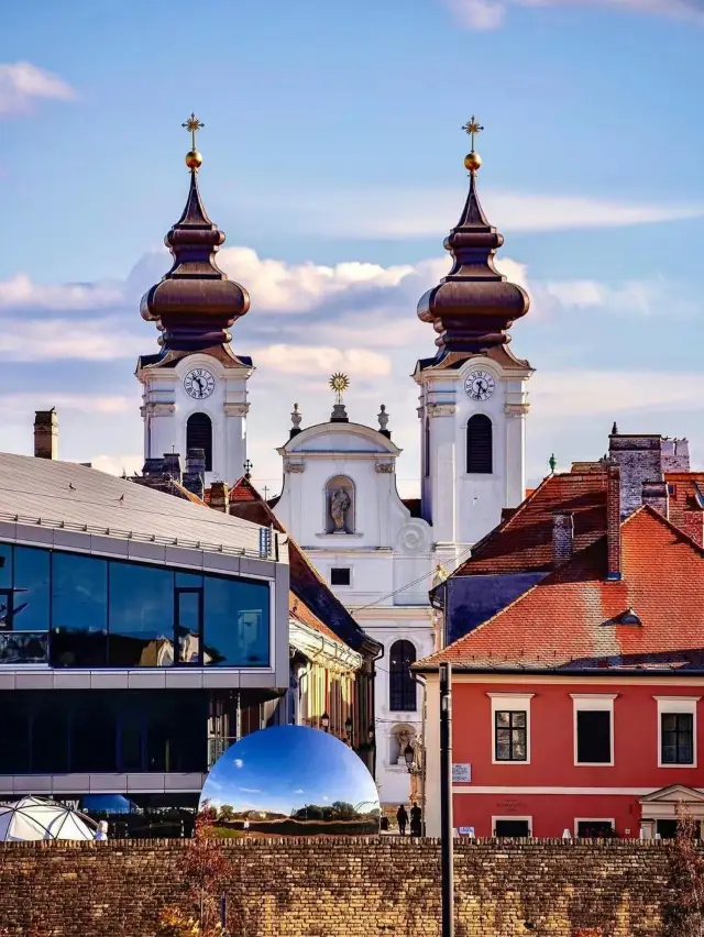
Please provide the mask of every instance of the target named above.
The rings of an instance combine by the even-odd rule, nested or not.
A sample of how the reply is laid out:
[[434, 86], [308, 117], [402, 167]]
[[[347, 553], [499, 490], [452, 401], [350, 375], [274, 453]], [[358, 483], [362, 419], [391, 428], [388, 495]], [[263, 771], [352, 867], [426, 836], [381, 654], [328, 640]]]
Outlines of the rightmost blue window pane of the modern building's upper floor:
[[220, 666], [268, 664], [268, 585], [206, 576], [207, 663]]

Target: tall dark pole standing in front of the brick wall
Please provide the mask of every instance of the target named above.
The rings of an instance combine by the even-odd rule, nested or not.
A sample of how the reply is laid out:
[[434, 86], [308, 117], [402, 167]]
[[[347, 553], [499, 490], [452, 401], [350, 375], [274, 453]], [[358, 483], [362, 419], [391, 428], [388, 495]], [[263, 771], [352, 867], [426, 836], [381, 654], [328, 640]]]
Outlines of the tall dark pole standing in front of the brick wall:
[[442, 937], [454, 937], [454, 840], [452, 827], [452, 664], [440, 664], [440, 823]]

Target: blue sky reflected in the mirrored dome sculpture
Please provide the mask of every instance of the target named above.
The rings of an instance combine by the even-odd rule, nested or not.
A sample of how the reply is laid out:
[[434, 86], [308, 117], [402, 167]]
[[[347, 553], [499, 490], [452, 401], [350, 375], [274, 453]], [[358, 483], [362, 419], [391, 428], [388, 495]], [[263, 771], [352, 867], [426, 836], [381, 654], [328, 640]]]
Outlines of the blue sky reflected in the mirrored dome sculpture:
[[235, 813], [284, 816], [336, 801], [360, 813], [378, 809], [376, 784], [349, 746], [307, 726], [275, 726], [240, 739], [220, 756], [200, 794], [202, 808], [229, 804]]

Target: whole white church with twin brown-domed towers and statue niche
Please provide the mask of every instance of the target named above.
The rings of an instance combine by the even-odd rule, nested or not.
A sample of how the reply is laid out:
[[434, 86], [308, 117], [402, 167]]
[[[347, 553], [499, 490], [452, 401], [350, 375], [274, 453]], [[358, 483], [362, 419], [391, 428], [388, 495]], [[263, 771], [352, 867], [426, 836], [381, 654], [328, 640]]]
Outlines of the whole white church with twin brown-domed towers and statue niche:
[[[470, 133], [479, 128], [468, 124]], [[472, 136], [472, 140], [474, 137]], [[200, 200], [200, 154], [184, 213], [166, 236], [169, 274], [144, 296], [143, 318], [162, 330], [158, 354], [138, 363], [143, 385], [145, 464], [175, 449], [205, 450], [206, 484], [242, 474], [248, 459], [250, 359], [237, 356], [229, 329], [246, 313], [246, 290], [215, 264], [224, 235]], [[350, 418], [345, 375], [327, 422], [301, 426], [297, 407], [278, 449], [283, 488], [271, 504], [360, 626], [384, 648], [375, 681], [376, 781], [382, 802], [409, 796], [405, 754], [419, 740], [422, 693], [409, 666], [438, 647], [428, 592], [525, 496], [527, 382], [532, 370], [508, 349], [512, 323], [528, 311], [525, 291], [494, 266], [503, 243], [481, 208], [479, 154], [465, 157], [470, 190], [444, 241], [449, 274], [418, 302], [435, 330], [435, 356], [418, 361], [420, 498], [396, 487], [400, 450], [387, 430]], [[208, 282], [204, 304], [202, 282]], [[413, 315], [409, 310], [408, 315]], [[430, 350], [430, 328], [428, 329]], [[413, 362], [409, 362], [413, 366]], [[188, 471], [188, 466], [187, 466]]]

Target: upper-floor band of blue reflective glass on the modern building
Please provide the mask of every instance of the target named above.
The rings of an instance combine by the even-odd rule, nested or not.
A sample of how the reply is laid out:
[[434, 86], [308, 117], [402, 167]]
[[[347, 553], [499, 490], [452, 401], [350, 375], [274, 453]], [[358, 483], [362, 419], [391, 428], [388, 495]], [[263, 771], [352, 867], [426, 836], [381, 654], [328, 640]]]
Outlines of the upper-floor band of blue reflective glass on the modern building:
[[0, 543], [0, 664], [257, 668], [267, 582]]

